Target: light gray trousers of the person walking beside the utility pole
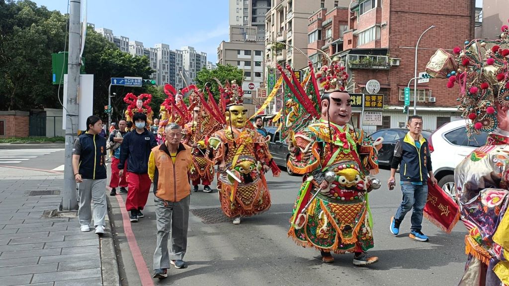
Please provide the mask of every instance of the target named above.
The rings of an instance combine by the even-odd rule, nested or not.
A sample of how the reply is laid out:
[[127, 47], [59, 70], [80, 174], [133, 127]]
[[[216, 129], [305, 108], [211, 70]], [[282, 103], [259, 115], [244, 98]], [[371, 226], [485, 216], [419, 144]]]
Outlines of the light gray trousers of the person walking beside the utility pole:
[[83, 182], [79, 183], [78, 196], [79, 224], [90, 224], [92, 219], [92, 207], [90, 203], [94, 200], [94, 226], [105, 226], [104, 217], [108, 209], [106, 205], [106, 179], [83, 179]]

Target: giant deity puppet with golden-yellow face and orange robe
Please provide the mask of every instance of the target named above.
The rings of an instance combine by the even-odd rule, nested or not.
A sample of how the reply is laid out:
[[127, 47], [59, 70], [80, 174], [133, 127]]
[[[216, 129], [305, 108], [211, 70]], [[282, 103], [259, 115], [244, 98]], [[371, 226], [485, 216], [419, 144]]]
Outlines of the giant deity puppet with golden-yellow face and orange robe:
[[239, 224], [240, 217], [252, 216], [270, 208], [270, 193], [265, 173], [279, 168], [272, 160], [265, 138], [247, 121], [243, 91], [235, 80], [220, 85], [227, 128], [208, 138], [219, 164], [219, 201], [225, 215]]

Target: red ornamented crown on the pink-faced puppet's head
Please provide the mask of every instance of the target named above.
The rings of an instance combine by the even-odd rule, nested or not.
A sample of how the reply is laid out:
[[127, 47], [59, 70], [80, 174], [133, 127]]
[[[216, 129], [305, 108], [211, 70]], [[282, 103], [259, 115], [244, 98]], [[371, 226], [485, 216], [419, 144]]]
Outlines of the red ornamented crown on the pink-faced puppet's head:
[[336, 59], [329, 65], [323, 65], [316, 74], [316, 78], [323, 89], [323, 93], [344, 92], [348, 83], [345, 63]]

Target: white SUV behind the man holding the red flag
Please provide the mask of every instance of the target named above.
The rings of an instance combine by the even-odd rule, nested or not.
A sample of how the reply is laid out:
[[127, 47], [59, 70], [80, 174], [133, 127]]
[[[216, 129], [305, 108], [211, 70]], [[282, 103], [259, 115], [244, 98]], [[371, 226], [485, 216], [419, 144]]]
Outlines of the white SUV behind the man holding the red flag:
[[468, 138], [465, 121], [446, 123], [431, 134], [428, 139], [433, 173], [438, 185], [455, 198], [454, 169], [477, 147], [486, 144], [487, 133], [473, 134]]

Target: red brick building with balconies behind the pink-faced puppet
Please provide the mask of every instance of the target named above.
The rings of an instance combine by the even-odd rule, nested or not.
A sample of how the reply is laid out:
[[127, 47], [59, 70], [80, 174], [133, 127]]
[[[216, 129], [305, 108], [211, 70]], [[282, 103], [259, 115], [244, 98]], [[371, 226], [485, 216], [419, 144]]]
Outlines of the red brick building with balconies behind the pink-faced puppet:
[[[444, 9], [443, 7], [447, 7]], [[321, 9], [309, 17], [308, 47], [319, 48], [330, 56], [338, 56], [350, 74], [350, 93], [365, 93], [366, 83], [380, 83], [383, 109], [382, 125], [363, 125], [362, 108], [354, 108], [353, 121], [367, 132], [382, 128], [404, 127], [404, 88], [414, 77], [415, 45], [418, 45], [417, 73], [436, 49], [452, 50], [474, 36], [475, 1], [430, 0], [362, 0], [349, 8], [337, 7], [329, 12]], [[320, 32], [317, 32], [320, 31]], [[311, 36], [316, 33], [316, 36]], [[319, 62], [316, 51], [310, 58]], [[424, 128], [435, 130], [450, 120], [458, 119], [457, 89], [447, 89], [445, 79], [431, 79], [417, 86], [417, 115], [423, 117]], [[410, 115], [413, 114], [413, 82], [410, 84]]]

